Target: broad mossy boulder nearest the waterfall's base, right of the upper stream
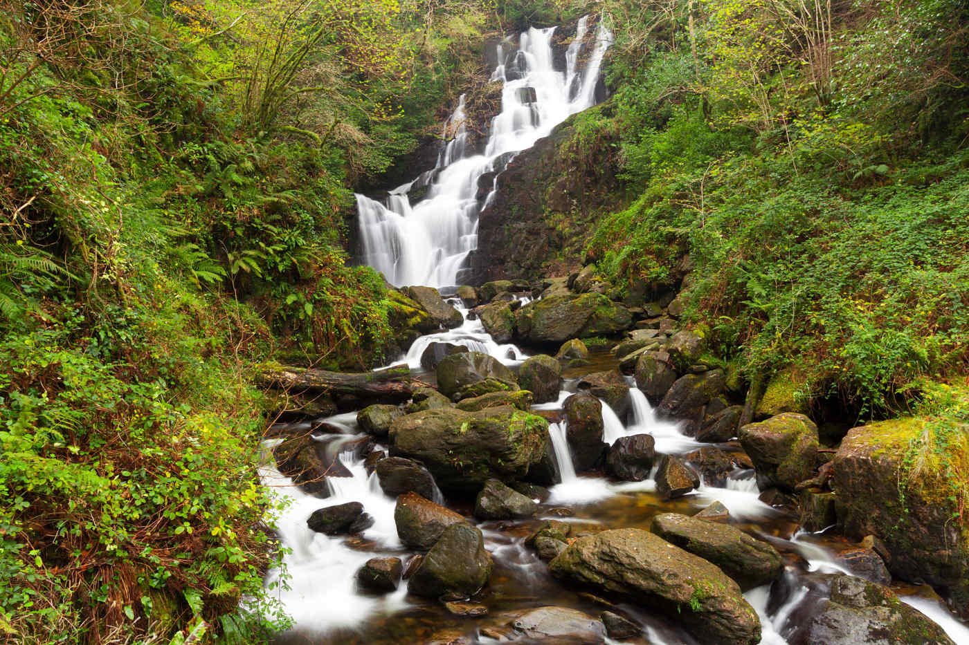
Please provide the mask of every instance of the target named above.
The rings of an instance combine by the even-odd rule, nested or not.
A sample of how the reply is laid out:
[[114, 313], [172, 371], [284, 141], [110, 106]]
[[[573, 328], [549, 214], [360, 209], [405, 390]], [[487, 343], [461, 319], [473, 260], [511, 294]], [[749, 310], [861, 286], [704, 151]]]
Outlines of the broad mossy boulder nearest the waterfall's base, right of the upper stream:
[[541, 345], [623, 331], [633, 317], [601, 293], [582, 293], [529, 302], [516, 312], [515, 322], [519, 340]]

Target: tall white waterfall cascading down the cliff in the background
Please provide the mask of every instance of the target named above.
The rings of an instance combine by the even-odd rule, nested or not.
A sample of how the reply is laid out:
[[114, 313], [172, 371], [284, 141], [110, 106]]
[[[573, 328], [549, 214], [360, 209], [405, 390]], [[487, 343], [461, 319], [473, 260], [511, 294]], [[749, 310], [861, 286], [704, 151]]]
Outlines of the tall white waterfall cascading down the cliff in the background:
[[[444, 124], [448, 144], [437, 167], [400, 186], [383, 202], [357, 196], [363, 261], [381, 271], [391, 284], [452, 287], [468, 254], [478, 246], [478, 180], [501, 171], [516, 152], [547, 137], [552, 128], [595, 104], [595, 89], [612, 35], [600, 24], [594, 43], [585, 43], [588, 17], [578, 21], [576, 38], [566, 52], [565, 72], [553, 66], [551, 38], [555, 27], [531, 28], [518, 37], [514, 51], [498, 44], [493, 80], [503, 83], [501, 111], [492, 119], [484, 154], [468, 144], [466, 98]], [[580, 53], [590, 51], [584, 66]], [[429, 185], [428, 185], [429, 182]], [[422, 200], [408, 193], [427, 187]], [[492, 188], [493, 192], [493, 188]], [[491, 195], [485, 199], [489, 201]]]

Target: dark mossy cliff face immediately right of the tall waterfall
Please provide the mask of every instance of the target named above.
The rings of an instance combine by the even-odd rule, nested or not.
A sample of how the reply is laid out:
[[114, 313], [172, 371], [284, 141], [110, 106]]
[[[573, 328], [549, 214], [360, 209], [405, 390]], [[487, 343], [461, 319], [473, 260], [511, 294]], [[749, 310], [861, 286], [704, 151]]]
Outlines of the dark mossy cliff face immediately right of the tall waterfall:
[[[624, 200], [615, 133], [583, 136], [585, 120], [609, 106], [577, 114], [497, 175], [496, 191], [482, 211], [478, 250], [471, 258], [472, 284], [490, 280], [564, 274], [582, 265], [595, 222]], [[493, 174], [480, 182], [480, 196]]]

